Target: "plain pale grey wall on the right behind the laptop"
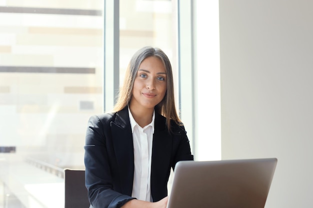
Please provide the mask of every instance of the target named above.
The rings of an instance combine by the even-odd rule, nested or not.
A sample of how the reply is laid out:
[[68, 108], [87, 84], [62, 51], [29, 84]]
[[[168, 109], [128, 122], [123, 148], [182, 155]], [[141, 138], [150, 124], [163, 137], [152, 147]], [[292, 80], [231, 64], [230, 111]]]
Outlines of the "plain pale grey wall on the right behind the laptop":
[[312, 208], [313, 1], [220, 0], [222, 159], [278, 159], [265, 208]]

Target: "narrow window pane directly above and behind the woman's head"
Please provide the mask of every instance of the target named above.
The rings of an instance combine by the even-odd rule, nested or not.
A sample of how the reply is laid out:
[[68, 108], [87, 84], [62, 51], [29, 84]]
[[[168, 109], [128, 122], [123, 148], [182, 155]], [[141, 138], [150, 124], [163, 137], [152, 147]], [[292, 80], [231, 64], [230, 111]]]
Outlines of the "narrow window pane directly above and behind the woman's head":
[[[143, 46], [161, 48], [177, 77], [177, 14], [176, 3], [171, 0], [120, 0], [119, 1], [119, 82], [133, 53]], [[177, 87], [175, 86], [176, 90]], [[177, 99], [177, 95], [176, 95]]]

